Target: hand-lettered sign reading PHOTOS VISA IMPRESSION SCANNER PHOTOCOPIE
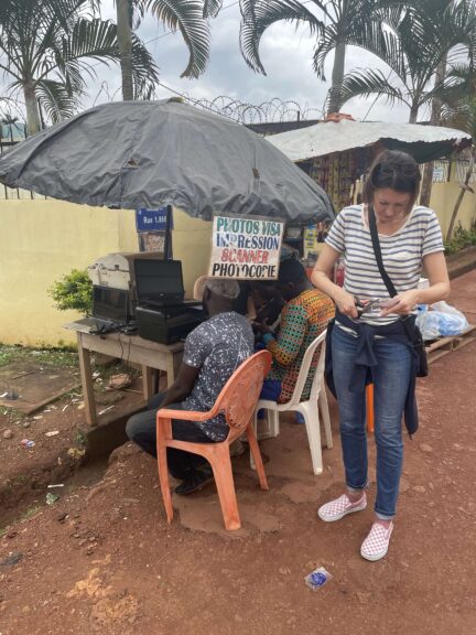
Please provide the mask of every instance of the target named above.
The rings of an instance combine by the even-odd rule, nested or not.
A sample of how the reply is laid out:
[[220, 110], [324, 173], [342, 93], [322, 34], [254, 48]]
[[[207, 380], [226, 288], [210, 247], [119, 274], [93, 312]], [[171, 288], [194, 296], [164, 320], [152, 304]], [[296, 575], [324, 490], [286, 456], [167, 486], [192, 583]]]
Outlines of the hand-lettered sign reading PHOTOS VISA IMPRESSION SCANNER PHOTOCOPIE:
[[275, 280], [284, 223], [215, 216], [208, 276]]

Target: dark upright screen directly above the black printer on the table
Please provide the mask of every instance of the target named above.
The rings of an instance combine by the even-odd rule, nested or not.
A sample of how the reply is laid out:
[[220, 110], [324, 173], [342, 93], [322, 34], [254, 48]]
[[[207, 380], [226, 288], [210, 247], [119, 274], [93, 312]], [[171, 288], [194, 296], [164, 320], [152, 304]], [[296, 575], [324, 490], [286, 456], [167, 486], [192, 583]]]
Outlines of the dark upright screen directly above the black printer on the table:
[[138, 303], [181, 302], [185, 295], [180, 260], [134, 259]]

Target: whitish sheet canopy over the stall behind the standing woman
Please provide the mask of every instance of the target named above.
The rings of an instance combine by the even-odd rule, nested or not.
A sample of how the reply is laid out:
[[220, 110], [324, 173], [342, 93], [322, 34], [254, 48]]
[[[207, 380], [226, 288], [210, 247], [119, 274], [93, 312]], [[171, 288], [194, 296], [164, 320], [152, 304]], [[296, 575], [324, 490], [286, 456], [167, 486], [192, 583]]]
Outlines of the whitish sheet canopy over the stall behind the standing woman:
[[345, 152], [381, 142], [390, 150], [409, 152], [419, 163], [451, 154], [470, 146], [470, 134], [453, 128], [418, 123], [366, 122], [342, 119], [268, 137], [292, 161]]

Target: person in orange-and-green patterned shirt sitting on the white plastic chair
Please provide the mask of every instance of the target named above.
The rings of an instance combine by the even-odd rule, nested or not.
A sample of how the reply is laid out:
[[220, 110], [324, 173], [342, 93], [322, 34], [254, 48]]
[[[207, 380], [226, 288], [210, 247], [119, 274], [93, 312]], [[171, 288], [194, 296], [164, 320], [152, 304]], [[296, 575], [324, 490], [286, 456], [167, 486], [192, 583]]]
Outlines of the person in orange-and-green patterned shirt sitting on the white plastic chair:
[[[334, 318], [334, 303], [328, 295], [314, 289], [304, 267], [295, 258], [281, 262], [277, 288], [286, 301], [281, 312], [279, 334], [275, 335], [266, 321], [258, 325], [263, 333], [263, 343], [273, 357], [261, 399], [285, 403], [294, 391], [309, 345]], [[316, 364], [317, 355], [304, 386], [304, 399], [311, 394]]]

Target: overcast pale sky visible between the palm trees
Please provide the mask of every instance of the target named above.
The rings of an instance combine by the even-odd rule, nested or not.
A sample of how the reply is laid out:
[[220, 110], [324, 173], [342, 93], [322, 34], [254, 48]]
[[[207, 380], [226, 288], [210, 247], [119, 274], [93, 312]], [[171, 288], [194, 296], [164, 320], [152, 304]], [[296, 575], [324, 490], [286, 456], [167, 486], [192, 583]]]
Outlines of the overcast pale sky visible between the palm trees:
[[[112, 0], [102, 0], [102, 18], [116, 21]], [[226, 7], [229, 7], [228, 9]], [[217, 19], [210, 21], [212, 55], [206, 72], [198, 79], [181, 79], [187, 64], [187, 47], [180, 33], [167, 34], [167, 30], [154, 17], [148, 15], [138, 30], [138, 35], [148, 43], [148, 49], [160, 67], [160, 79], [165, 86], [188, 97], [209, 100], [223, 95], [252, 105], [260, 105], [278, 97], [283, 101], [298, 101], [306, 118], [322, 116], [329, 85], [317, 79], [312, 69], [314, 37], [305, 26], [298, 31], [283, 22], [274, 24], [261, 41], [261, 61], [267, 76], [253, 73], [239, 52], [240, 12], [235, 0], [225, 0]], [[327, 61], [326, 75], [331, 76], [333, 60]], [[378, 60], [356, 47], [349, 47], [346, 71], [355, 67], [377, 66]], [[382, 66], [385, 68], [385, 65]], [[120, 99], [120, 74], [118, 68], [104, 69], [96, 66], [98, 80], [90, 85], [89, 99], [85, 106]], [[106, 82], [101, 90], [101, 80]], [[173, 94], [159, 87], [158, 97]], [[356, 119], [408, 121], [408, 109], [391, 108], [385, 100], [359, 99], [347, 103], [343, 111]], [[370, 112], [369, 111], [369, 108]]]

